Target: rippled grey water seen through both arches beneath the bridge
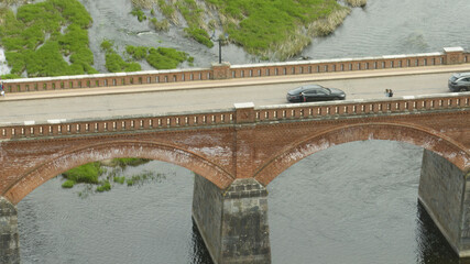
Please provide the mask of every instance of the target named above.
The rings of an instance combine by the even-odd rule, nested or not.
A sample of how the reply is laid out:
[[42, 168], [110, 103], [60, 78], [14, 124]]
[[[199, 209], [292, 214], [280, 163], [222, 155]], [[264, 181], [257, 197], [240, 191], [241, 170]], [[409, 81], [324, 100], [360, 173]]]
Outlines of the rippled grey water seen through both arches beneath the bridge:
[[[458, 263], [417, 204], [422, 148], [334, 146], [269, 185], [273, 263]], [[190, 218], [193, 174], [151, 162], [141, 187], [79, 198], [54, 178], [18, 206], [23, 263], [211, 263]]]

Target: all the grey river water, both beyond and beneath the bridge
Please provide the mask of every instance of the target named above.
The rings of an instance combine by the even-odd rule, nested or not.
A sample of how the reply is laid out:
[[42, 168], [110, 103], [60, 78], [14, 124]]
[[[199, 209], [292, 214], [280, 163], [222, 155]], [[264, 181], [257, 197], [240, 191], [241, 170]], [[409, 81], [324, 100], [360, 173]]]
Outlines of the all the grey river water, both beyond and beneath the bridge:
[[[217, 61], [187, 41], [181, 29], [165, 34], [130, 16], [128, 0], [81, 0], [94, 18], [90, 44], [97, 68], [99, 43], [163, 45], [187, 51], [195, 67]], [[358, 57], [470, 47], [468, 0], [369, 0], [331, 36], [314, 40], [302, 55]], [[143, 33], [142, 33], [143, 32]], [[223, 61], [256, 59], [236, 46]], [[184, 65], [187, 67], [188, 65]], [[459, 263], [417, 204], [422, 148], [387, 141], [353, 142], [295, 164], [267, 189], [273, 263]], [[160, 173], [141, 186], [116, 185], [79, 197], [62, 178], [45, 183], [19, 205], [23, 263], [210, 263], [190, 207], [192, 172], [157, 161], [125, 175]]]

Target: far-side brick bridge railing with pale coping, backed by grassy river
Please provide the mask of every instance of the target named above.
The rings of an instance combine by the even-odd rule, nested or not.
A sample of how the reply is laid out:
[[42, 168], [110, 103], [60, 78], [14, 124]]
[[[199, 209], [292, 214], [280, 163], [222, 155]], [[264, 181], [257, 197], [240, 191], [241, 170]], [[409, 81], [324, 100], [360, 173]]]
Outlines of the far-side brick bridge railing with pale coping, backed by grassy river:
[[166, 84], [209, 79], [252, 78], [263, 76], [426, 67], [464, 63], [470, 63], [470, 53], [466, 53], [461, 47], [446, 47], [441, 53], [247, 65], [216, 64], [212, 65], [211, 68], [147, 70], [134, 73], [9, 79], [4, 80], [4, 85], [7, 92], [28, 92], [59, 89]]

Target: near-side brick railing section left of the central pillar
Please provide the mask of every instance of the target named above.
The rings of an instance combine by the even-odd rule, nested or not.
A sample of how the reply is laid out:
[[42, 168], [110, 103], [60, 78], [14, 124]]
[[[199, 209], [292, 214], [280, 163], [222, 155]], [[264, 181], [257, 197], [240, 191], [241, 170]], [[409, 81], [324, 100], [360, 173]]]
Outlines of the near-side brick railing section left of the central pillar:
[[234, 112], [231, 110], [162, 117], [123, 117], [110, 120], [48, 120], [47, 123], [41, 124], [26, 121], [24, 124], [1, 127], [0, 140], [200, 128], [232, 124], [234, 121]]

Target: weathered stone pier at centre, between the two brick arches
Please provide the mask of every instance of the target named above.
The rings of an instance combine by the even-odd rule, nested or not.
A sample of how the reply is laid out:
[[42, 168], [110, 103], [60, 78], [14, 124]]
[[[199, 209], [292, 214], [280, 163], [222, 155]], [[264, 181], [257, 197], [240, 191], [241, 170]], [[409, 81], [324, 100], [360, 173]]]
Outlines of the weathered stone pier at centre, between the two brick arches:
[[220, 190], [195, 175], [193, 218], [216, 264], [271, 263], [267, 191], [256, 180]]

